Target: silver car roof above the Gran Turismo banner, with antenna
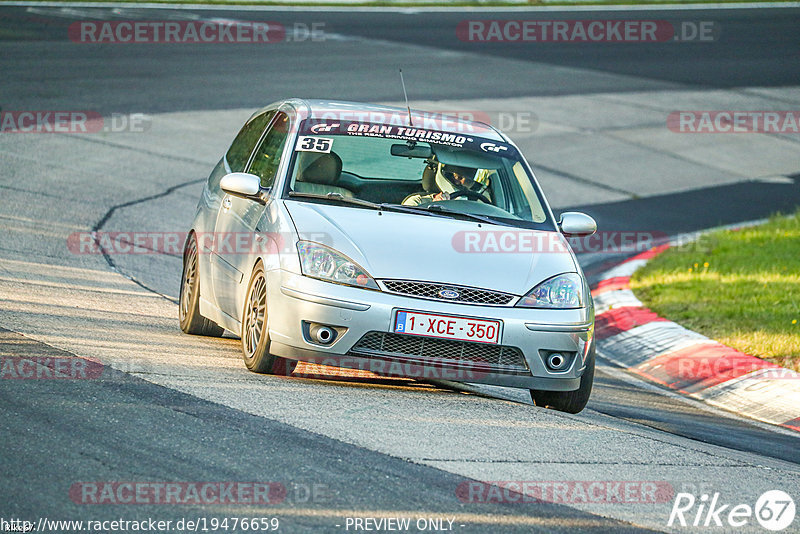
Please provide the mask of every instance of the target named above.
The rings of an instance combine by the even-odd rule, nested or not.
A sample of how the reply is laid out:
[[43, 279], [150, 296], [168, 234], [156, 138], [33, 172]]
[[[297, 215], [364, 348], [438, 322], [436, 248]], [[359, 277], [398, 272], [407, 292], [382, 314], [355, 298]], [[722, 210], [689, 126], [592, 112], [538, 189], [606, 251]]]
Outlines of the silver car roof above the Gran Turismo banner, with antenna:
[[[283, 104], [292, 106], [297, 112], [299, 120], [350, 120], [409, 126], [409, 116], [406, 108], [344, 100], [306, 100], [299, 98], [287, 99], [283, 101]], [[456, 116], [455, 113], [460, 112], [453, 110], [453, 114], [449, 112], [443, 114], [412, 109], [411, 126], [451, 133], [471, 133], [494, 141], [506, 141], [506, 137], [493, 126], [480, 121], [466, 120], [463, 117]], [[464, 112], [464, 114], [467, 113], [470, 112]]]

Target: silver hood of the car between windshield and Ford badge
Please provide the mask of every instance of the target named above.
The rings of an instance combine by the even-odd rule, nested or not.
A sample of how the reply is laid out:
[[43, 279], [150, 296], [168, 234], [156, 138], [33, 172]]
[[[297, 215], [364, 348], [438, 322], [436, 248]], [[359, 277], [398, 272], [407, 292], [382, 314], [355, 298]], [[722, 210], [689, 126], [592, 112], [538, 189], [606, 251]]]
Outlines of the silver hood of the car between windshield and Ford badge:
[[300, 239], [347, 255], [376, 279], [523, 295], [551, 276], [577, 271], [566, 239], [556, 232], [301, 201], [285, 205]]

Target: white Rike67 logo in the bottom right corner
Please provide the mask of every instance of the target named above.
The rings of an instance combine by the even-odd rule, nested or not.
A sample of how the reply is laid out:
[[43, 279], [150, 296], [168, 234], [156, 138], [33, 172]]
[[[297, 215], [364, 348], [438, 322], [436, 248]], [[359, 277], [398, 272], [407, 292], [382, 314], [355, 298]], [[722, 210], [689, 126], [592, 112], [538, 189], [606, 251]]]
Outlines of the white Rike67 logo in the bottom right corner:
[[784, 530], [794, 522], [795, 504], [788, 493], [781, 490], [764, 492], [755, 506], [730, 504], [720, 501], [720, 494], [704, 493], [696, 498], [691, 493], [678, 493], [672, 503], [668, 527], [716, 527], [721, 531], [758, 524], [774, 532]]

